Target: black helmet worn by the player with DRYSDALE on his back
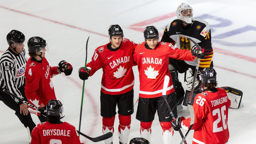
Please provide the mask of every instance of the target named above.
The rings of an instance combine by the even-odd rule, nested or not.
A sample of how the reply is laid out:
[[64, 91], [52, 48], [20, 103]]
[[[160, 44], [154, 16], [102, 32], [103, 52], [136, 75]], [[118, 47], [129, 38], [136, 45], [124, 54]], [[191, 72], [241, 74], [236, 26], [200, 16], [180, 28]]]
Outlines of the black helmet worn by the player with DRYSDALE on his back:
[[63, 114], [63, 107], [62, 107], [62, 103], [59, 100], [55, 100], [55, 99], [51, 99], [46, 106], [46, 113], [47, 115], [53, 116], [53, 117], [57, 117], [57, 116], [61, 116]]

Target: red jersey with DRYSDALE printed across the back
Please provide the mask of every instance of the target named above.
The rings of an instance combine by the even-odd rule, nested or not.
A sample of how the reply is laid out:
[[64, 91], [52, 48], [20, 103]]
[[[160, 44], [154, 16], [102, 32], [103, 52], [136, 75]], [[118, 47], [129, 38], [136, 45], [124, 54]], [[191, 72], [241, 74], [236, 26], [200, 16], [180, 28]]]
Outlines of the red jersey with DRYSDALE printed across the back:
[[67, 122], [39, 123], [31, 132], [31, 144], [81, 144], [77, 130]]

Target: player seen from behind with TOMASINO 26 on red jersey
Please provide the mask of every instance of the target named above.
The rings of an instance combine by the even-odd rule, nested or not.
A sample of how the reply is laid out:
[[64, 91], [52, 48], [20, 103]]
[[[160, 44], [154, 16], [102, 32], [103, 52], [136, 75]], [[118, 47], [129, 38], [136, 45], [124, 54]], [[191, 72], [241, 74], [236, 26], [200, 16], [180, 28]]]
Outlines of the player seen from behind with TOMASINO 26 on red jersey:
[[[193, 144], [225, 144], [229, 139], [227, 126], [230, 100], [223, 88], [217, 86], [216, 72], [212, 67], [204, 68], [200, 74], [202, 93], [194, 99]], [[171, 123], [174, 130], [190, 126], [190, 118], [178, 117]]]

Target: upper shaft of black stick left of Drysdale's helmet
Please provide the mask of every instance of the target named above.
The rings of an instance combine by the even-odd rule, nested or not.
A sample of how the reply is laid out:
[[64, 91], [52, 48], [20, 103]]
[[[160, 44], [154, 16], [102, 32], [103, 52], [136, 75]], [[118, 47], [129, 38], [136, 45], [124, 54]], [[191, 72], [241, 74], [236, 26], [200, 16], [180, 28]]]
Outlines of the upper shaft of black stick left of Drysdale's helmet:
[[38, 116], [40, 116], [40, 115], [42, 114], [44, 117], [46, 117], [46, 107], [42, 107], [42, 108], [39, 109], [39, 108], [37, 108], [37, 107], [31, 105], [30, 103], [28, 103], [28, 102], [25, 101], [24, 99], [22, 99], [22, 98], [20, 98], [20, 97], [18, 97], [18, 96], [16, 96], [16, 95], [14, 95], [13, 93], [10, 93], [8, 90], [3, 89], [3, 92], [9, 94], [9, 95], [12, 96], [12, 97], [17, 98], [19, 101], [21, 101], [21, 102], [23, 102], [23, 103], [26, 103], [28, 106], [30, 106], [30, 107], [32, 107], [33, 109], [35, 109], [35, 110], [30, 109], [30, 110], [29, 110], [30, 113], [36, 114], [36, 115], [38, 115]]

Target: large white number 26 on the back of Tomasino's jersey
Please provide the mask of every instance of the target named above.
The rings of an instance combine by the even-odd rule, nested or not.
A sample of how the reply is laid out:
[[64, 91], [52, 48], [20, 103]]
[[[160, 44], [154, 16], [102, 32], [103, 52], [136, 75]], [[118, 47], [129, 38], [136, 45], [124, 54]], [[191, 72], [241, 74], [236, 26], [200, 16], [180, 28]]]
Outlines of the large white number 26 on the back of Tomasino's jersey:
[[[226, 115], [224, 114], [224, 111], [226, 111], [226, 106], [222, 106], [221, 110], [219, 110], [219, 109], [213, 110], [213, 116], [218, 114], [218, 119], [213, 122], [213, 133], [222, 131], [223, 129], [224, 130], [227, 129], [227, 118], [226, 118]], [[222, 120], [222, 126], [218, 127], [218, 123], [221, 120]]]

